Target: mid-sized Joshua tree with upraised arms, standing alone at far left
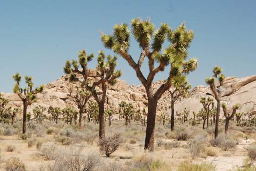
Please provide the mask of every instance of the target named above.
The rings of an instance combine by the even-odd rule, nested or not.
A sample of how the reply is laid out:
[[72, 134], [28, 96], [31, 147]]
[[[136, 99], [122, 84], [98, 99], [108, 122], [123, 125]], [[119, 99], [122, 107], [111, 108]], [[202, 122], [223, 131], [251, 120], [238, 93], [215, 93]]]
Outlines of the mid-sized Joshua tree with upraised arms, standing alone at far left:
[[20, 81], [21, 76], [19, 73], [16, 73], [13, 76], [15, 80], [15, 85], [13, 88], [13, 92], [17, 95], [19, 95], [20, 99], [23, 102], [23, 124], [22, 124], [22, 133], [27, 132], [27, 126], [26, 126], [26, 116], [27, 116], [27, 107], [31, 105], [33, 102], [37, 100], [36, 94], [41, 93], [43, 91], [43, 86], [37, 87], [35, 90], [33, 90], [33, 82], [32, 82], [32, 76], [25, 76], [25, 83], [27, 84], [27, 87], [20, 88]]

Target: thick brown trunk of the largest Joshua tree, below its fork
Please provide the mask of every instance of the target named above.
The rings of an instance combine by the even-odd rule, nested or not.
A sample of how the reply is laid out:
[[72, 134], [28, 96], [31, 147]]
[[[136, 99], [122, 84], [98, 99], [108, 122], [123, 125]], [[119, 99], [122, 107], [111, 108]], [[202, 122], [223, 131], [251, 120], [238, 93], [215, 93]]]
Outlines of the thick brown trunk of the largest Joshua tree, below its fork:
[[147, 119], [144, 149], [148, 150], [149, 152], [154, 151], [154, 132], [155, 132], [157, 103], [158, 103], [158, 100], [155, 97], [151, 97], [148, 99], [148, 119]]

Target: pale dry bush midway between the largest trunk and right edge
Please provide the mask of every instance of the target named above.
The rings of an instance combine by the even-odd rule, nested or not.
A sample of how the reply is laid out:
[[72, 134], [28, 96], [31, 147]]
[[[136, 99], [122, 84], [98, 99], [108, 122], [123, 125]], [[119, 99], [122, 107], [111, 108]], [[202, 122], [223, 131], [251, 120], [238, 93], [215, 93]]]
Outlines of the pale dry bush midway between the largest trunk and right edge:
[[205, 143], [204, 135], [197, 135], [194, 139], [190, 139], [188, 141], [188, 148], [192, 158], [199, 156], [199, 154], [205, 150], [204, 143]]

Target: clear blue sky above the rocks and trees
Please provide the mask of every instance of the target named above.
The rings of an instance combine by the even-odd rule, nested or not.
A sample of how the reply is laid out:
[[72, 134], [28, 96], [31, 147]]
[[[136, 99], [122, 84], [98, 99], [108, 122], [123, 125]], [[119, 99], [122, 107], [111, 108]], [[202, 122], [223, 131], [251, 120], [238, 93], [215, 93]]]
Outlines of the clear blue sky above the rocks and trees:
[[[197, 57], [199, 67], [189, 75], [192, 86], [204, 84], [215, 65], [226, 76], [255, 75], [255, 9], [255, 0], [0, 0], [0, 92], [12, 92], [16, 72], [33, 76], [35, 85], [56, 80], [65, 61], [77, 59], [79, 50], [96, 55], [104, 50], [100, 30], [111, 33], [116, 23], [148, 16], [156, 27], [166, 22], [176, 28], [186, 21], [194, 31], [189, 57]], [[138, 58], [139, 53], [133, 40], [130, 54]], [[121, 57], [117, 68], [121, 79], [140, 84]], [[167, 75], [163, 72], [156, 80]]]

